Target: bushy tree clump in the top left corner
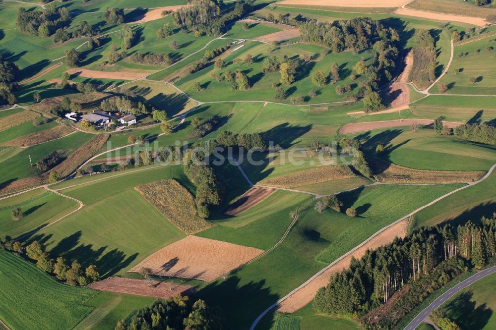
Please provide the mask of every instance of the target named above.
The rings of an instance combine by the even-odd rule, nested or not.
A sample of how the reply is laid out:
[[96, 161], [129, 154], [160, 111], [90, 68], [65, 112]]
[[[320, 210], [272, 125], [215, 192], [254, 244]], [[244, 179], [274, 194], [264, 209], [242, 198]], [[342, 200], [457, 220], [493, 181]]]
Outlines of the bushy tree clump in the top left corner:
[[47, 38], [56, 31], [63, 31], [63, 28], [70, 24], [70, 20], [67, 8], [57, 9], [55, 3], [48, 4], [41, 12], [19, 7], [15, 17], [15, 23], [21, 32], [42, 38]]

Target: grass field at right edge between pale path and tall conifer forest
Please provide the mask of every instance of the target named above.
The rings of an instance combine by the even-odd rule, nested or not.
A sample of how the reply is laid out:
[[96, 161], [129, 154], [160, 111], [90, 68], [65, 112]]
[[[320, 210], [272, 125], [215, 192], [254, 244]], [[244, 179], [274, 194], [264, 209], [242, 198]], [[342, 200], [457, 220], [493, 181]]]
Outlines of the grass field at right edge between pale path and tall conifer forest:
[[482, 216], [490, 217], [496, 208], [496, 172], [486, 180], [468, 187], [431, 205], [414, 216], [416, 226], [430, 226], [441, 223], [455, 225], [468, 220], [479, 221]]

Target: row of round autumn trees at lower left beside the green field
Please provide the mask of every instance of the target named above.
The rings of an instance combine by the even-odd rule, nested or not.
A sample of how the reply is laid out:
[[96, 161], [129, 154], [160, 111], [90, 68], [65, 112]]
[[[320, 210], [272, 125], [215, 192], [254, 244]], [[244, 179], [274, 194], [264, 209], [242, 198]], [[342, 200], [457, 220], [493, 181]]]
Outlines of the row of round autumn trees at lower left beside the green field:
[[36, 261], [36, 267], [40, 270], [50, 275], [55, 275], [58, 280], [69, 285], [86, 286], [100, 278], [100, 273], [95, 265], [89, 265], [83, 270], [81, 264], [75, 261], [69, 266], [62, 256], [54, 260], [45, 251], [45, 246], [36, 240], [23, 247], [20, 242], [13, 241], [7, 236], [5, 239], [0, 240], [0, 250], [7, 250], [17, 255], [25, 254], [29, 259]]

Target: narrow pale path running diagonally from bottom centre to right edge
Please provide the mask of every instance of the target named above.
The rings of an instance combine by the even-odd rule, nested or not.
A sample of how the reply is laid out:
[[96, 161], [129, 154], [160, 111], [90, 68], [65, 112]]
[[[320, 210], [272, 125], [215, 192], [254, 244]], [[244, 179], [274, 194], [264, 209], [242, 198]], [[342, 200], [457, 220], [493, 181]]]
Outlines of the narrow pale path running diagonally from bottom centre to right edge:
[[352, 254], [353, 252], [355, 252], [356, 250], [358, 250], [359, 248], [361, 248], [362, 246], [364, 246], [365, 244], [367, 244], [370, 240], [372, 240], [372, 238], [376, 237], [377, 235], [379, 235], [380, 233], [382, 233], [384, 230], [392, 227], [393, 225], [403, 221], [403, 220], [406, 220], [408, 218], [410, 218], [411, 216], [415, 215], [417, 212], [420, 212], [422, 210], [424, 210], [425, 208], [437, 203], [438, 201], [460, 191], [460, 190], [463, 190], [463, 189], [466, 189], [468, 187], [471, 187], [473, 185], [476, 185], [477, 183], [479, 182], [482, 182], [484, 181], [485, 179], [487, 179], [489, 177], [489, 175], [491, 175], [491, 173], [493, 172], [493, 170], [496, 168], [496, 163], [491, 166], [491, 168], [489, 169], [489, 171], [486, 173], [486, 175], [484, 175], [481, 179], [477, 180], [477, 181], [474, 181], [474, 182], [470, 182], [466, 185], [464, 185], [463, 187], [460, 187], [460, 188], [457, 188], [453, 191], [450, 191], [438, 198], [436, 198], [434, 201], [430, 202], [430, 203], [427, 203], [426, 205], [424, 206], [421, 206], [420, 208], [418, 208], [417, 210], [407, 214], [406, 216], [398, 219], [398, 220], [395, 220], [394, 222], [388, 224], [387, 226], [383, 227], [382, 229], [379, 229], [378, 231], [376, 231], [374, 234], [372, 234], [372, 236], [370, 236], [368, 239], [366, 239], [365, 241], [363, 241], [362, 243], [360, 243], [359, 245], [357, 245], [356, 247], [354, 247], [353, 249], [351, 249], [350, 251], [348, 251], [346, 254], [342, 255], [341, 257], [339, 257], [338, 259], [334, 260], [332, 263], [330, 263], [329, 265], [327, 265], [326, 267], [324, 267], [323, 269], [321, 269], [320, 271], [318, 271], [315, 275], [311, 276], [308, 280], [306, 280], [303, 284], [301, 284], [300, 286], [298, 286], [297, 288], [295, 288], [294, 290], [292, 290], [291, 292], [289, 292], [287, 295], [285, 295], [284, 297], [282, 297], [281, 299], [279, 299], [278, 301], [276, 301], [274, 304], [270, 305], [269, 307], [267, 307], [267, 309], [265, 309], [259, 316], [257, 316], [257, 318], [253, 321], [253, 323], [251, 324], [250, 326], [250, 330], [254, 330], [256, 325], [258, 324], [258, 322], [260, 322], [260, 320], [269, 312], [271, 311], [272, 309], [276, 308], [281, 302], [283, 302], [284, 300], [288, 299], [290, 296], [292, 296], [294, 293], [296, 293], [297, 291], [299, 291], [300, 289], [302, 289], [303, 287], [305, 287], [307, 284], [309, 284], [313, 279], [315, 279], [317, 276], [321, 275], [322, 273], [324, 273], [326, 270], [328, 270], [329, 268], [331, 268], [332, 266], [334, 266], [336, 263], [338, 263], [339, 261], [341, 261], [342, 259], [346, 258], [347, 256], [349, 256], [350, 254]]

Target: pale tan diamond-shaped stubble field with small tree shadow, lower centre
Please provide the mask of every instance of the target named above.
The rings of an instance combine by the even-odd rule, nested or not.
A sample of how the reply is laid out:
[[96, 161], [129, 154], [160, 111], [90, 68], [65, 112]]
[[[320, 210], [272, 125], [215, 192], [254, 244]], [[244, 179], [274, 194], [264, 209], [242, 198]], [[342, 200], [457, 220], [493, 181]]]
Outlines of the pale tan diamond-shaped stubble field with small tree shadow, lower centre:
[[149, 268], [153, 275], [212, 281], [246, 264], [263, 251], [208, 238], [187, 236], [174, 242], [129, 270]]

